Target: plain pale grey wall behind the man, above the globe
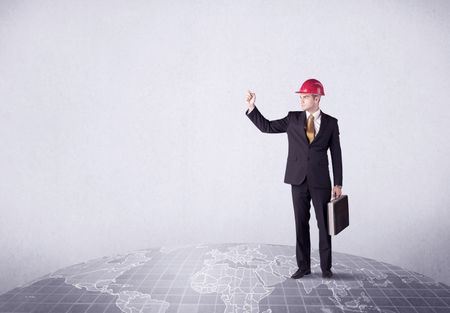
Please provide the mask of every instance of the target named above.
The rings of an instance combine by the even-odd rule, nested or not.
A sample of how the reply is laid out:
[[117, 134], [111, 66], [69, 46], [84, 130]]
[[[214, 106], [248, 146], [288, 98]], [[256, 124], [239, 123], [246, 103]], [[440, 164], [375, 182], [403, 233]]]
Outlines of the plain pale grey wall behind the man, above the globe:
[[[0, 292], [162, 245], [295, 244], [285, 134], [339, 119], [334, 251], [450, 284], [450, 2], [0, 2]], [[312, 246], [318, 230], [312, 210]]]

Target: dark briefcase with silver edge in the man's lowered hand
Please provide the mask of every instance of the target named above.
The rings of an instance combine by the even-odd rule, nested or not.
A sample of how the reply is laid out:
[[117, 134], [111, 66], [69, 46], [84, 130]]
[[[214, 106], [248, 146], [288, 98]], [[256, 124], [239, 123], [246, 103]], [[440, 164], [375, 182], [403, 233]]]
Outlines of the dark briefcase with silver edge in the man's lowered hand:
[[348, 225], [348, 196], [341, 195], [328, 202], [328, 234], [335, 236]]

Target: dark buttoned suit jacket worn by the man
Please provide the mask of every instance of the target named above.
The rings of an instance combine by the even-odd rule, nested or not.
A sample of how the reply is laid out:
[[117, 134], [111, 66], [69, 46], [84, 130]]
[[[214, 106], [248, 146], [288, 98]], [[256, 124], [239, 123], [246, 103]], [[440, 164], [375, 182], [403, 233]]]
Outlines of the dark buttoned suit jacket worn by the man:
[[334, 185], [342, 186], [342, 156], [336, 118], [322, 111], [319, 132], [309, 144], [305, 111], [290, 111], [285, 118], [273, 121], [267, 120], [257, 107], [247, 112], [248, 118], [263, 133], [287, 133], [289, 152], [284, 176], [286, 184], [299, 185], [307, 177], [312, 187], [331, 189], [327, 155], [330, 149]]

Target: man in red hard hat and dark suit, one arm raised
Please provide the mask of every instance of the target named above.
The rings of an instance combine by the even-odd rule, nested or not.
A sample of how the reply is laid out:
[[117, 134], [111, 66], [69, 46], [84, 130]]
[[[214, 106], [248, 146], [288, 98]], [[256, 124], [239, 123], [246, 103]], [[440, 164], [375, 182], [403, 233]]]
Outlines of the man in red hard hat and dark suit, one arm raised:
[[[311, 274], [309, 218], [311, 199], [319, 228], [319, 253], [322, 277], [330, 278], [331, 236], [328, 235], [327, 204], [342, 194], [342, 157], [337, 119], [319, 108], [325, 95], [316, 79], [306, 80], [299, 91], [303, 111], [290, 111], [285, 118], [267, 120], [255, 106], [256, 95], [248, 92], [246, 115], [263, 133], [287, 133], [288, 157], [284, 182], [291, 184], [295, 213], [296, 257], [298, 270], [294, 279]], [[331, 190], [328, 155], [333, 165], [334, 187]]]

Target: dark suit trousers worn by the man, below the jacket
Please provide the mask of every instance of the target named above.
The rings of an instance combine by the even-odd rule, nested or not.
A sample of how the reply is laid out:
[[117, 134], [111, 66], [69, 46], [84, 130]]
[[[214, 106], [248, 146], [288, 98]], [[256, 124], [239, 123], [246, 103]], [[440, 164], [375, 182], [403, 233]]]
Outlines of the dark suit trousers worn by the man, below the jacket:
[[331, 269], [331, 236], [328, 235], [327, 204], [331, 199], [331, 189], [312, 188], [305, 179], [300, 185], [292, 186], [292, 201], [295, 213], [296, 257], [300, 269], [311, 268], [311, 240], [309, 218], [311, 199], [319, 228], [319, 254], [322, 271]]

